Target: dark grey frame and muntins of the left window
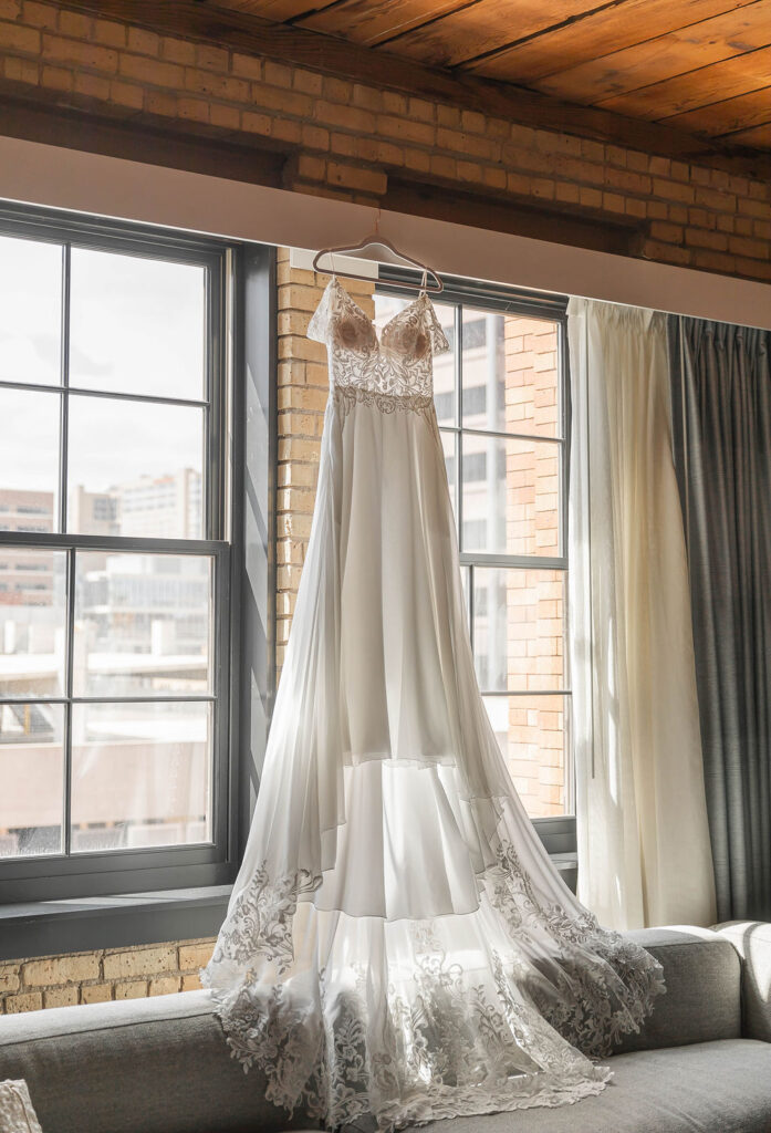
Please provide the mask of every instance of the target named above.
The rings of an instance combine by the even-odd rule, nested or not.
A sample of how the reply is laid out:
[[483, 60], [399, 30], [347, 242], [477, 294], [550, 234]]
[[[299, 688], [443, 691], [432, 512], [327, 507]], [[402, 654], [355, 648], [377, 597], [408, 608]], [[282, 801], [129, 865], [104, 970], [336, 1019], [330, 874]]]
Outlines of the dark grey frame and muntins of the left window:
[[[63, 550], [68, 555], [67, 571], [67, 649], [71, 654], [75, 587], [72, 570], [77, 551], [105, 550], [132, 553], [173, 553], [207, 555], [212, 559], [212, 689], [190, 697], [149, 698], [151, 700], [206, 700], [213, 705], [212, 732], [212, 842], [194, 845], [119, 847], [79, 854], [41, 854], [28, 858], [0, 859], [0, 904], [103, 896], [106, 894], [160, 891], [179, 887], [219, 886], [234, 875], [238, 830], [235, 828], [233, 767], [239, 750], [238, 684], [233, 680], [238, 663], [238, 602], [240, 585], [240, 547], [242, 501], [238, 467], [241, 459], [241, 415], [233, 412], [240, 404], [242, 387], [241, 349], [238, 335], [242, 327], [234, 315], [239, 304], [241, 249], [232, 241], [199, 237], [149, 225], [128, 224], [93, 216], [83, 216], [3, 203], [0, 205], [0, 235], [14, 238], [63, 245], [62, 253], [62, 358], [59, 386], [35, 383], [2, 383], [3, 387], [24, 390], [51, 389], [60, 392], [60, 467], [59, 527], [53, 534], [0, 533], [0, 543], [8, 547]], [[127, 253], [148, 258], [165, 258], [190, 263], [206, 270], [205, 357], [206, 386], [198, 404], [204, 412], [204, 535], [202, 539], [156, 539], [132, 536], [77, 535], [63, 530], [67, 506], [67, 415], [69, 393], [77, 390], [68, 382], [68, 267], [71, 246], [93, 250]], [[93, 390], [84, 393], [94, 394]], [[97, 391], [97, 395], [147, 403], [190, 404], [185, 399], [145, 394], [114, 394]], [[71, 657], [69, 658], [71, 661]], [[68, 664], [71, 672], [71, 664]], [[69, 676], [69, 674], [68, 674]], [[67, 691], [71, 691], [66, 689]], [[109, 697], [29, 697], [0, 698], [2, 702], [44, 701], [76, 704], [82, 700], [110, 700]], [[146, 697], [112, 698], [146, 700]], [[112, 701], [111, 701], [112, 702]], [[66, 714], [69, 718], [69, 714]], [[71, 744], [69, 727], [65, 734], [65, 774], [69, 776]], [[69, 799], [69, 791], [67, 791]], [[65, 801], [63, 823], [69, 818]]]

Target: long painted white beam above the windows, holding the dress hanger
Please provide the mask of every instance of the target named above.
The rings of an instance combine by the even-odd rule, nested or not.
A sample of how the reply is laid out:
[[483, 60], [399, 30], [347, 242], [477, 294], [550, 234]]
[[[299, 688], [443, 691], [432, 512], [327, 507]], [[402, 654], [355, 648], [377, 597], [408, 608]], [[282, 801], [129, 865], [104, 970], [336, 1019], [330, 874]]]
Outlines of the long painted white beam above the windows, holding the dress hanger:
[[[377, 210], [0, 137], [0, 198], [299, 249], [349, 246]], [[771, 284], [383, 212], [379, 231], [438, 272], [771, 329]]]

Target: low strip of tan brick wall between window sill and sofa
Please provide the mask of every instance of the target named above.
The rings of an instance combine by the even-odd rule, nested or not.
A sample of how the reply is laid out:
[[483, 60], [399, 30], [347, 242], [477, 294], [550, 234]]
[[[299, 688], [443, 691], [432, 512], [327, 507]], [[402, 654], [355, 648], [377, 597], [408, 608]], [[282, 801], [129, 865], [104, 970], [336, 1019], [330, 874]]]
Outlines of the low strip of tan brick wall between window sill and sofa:
[[191, 991], [213, 940], [0, 961], [0, 1014]]

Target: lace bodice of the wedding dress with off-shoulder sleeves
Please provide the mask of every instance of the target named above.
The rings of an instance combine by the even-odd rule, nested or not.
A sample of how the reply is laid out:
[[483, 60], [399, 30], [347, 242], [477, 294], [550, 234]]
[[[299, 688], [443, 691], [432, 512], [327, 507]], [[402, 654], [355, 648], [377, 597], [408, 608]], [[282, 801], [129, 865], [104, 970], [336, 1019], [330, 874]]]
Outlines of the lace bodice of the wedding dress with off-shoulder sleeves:
[[431, 360], [449, 349], [425, 292], [394, 315], [378, 339], [372, 321], [334, 275], [310, 321], [308, 338], [327, 347], [333, 389], [413, 403], [430, 401]]

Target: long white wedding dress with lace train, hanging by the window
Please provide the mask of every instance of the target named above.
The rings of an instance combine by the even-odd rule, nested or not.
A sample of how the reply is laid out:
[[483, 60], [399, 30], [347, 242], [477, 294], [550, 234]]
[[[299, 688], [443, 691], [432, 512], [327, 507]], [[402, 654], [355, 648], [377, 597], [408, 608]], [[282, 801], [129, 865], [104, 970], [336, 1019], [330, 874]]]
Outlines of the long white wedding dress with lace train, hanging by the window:
[[204, 979], [268, 1099], [334, 1128], [557, 1106], [660, 965], [565, 887], [474, 675], [425, 295], [378, 340], [336, 279], [331, 397], [246, 857]]

